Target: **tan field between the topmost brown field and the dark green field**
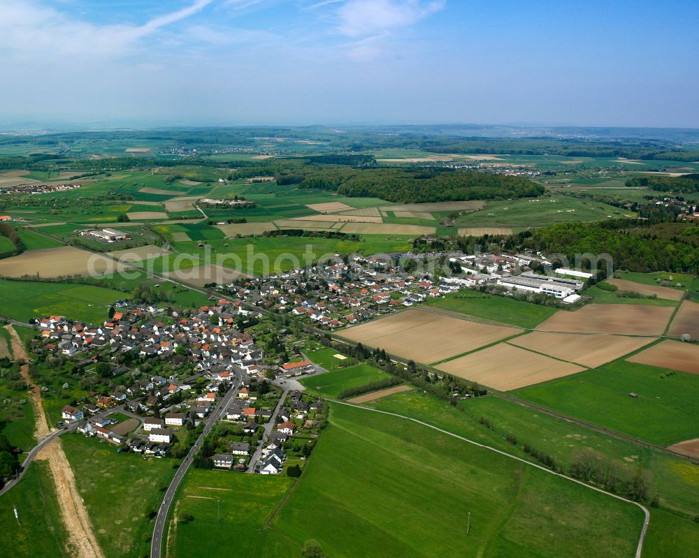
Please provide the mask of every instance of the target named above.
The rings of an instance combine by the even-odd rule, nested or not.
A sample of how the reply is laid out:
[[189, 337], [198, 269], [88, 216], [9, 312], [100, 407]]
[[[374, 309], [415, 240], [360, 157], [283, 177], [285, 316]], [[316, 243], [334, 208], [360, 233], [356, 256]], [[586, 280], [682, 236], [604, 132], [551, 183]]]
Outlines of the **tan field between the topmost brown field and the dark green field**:
[[534, 331], [512, 339], [509, 343], [544, 353], [561, 360], [597, 368], [633, 353], [651, 343], [651, 337], [621, 335], [576, 335], [575, 333], [544, 333]]

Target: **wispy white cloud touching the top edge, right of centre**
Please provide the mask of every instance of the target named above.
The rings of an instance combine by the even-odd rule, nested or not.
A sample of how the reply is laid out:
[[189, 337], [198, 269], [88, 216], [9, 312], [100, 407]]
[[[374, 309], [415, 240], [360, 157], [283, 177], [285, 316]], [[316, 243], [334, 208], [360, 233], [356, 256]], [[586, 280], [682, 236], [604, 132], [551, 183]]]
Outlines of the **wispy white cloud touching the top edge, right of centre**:
[[410, 27], [442, 9], [445, 0], [349, 0], [338, 8], [338, 29], [349, 37]]

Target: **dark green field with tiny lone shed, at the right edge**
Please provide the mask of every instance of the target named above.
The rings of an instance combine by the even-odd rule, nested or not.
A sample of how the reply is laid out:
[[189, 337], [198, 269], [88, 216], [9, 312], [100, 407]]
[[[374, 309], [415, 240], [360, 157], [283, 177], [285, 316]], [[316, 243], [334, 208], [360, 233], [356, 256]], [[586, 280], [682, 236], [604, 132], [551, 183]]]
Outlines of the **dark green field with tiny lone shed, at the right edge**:
[[[574, 376], [514, 390], [549, 409], [653, 443], [699, 437], [699, 376], [618, 361]], [[635, 392], [638, 397], [629, 397]]]

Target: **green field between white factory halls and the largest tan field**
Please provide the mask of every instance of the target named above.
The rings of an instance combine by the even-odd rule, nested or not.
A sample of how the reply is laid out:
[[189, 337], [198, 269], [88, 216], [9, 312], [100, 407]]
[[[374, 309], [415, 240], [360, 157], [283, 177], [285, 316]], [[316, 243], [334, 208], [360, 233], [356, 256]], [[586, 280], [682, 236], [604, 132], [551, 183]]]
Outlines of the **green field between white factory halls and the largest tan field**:
[[454, 293], [445, 298], [428, 300], [427, 304], [477, 318], [517, 325], [520, 328], [535, 328], [553, 316], [557, 310], [541, 304], [487, 295], [478, 291]]

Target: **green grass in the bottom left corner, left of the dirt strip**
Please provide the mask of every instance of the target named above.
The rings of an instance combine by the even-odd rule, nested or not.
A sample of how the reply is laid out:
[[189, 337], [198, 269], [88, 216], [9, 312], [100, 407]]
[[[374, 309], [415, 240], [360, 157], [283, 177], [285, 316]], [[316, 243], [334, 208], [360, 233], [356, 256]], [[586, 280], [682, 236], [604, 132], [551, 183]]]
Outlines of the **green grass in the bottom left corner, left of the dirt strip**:
[[[17, 506], [19, 522], [13, 506]], [[0, 548], [13, 558], [68, 557], [66, 532], [48, 464], [34, 462], [20, 483], [0, 497]]]

